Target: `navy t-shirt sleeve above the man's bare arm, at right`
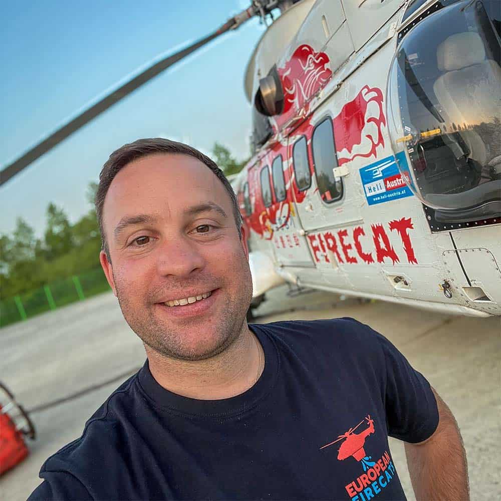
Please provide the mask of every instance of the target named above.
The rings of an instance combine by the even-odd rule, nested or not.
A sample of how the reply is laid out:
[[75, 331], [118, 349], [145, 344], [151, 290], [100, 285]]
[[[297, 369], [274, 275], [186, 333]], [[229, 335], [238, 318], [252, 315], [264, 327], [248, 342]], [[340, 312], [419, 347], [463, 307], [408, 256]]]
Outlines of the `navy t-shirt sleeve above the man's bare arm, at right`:
[[376, 333], [386, 365], [385, 407], [388, 435], [410, 443], [429, 438], [438, 426], [435, 395], [390, 341]]

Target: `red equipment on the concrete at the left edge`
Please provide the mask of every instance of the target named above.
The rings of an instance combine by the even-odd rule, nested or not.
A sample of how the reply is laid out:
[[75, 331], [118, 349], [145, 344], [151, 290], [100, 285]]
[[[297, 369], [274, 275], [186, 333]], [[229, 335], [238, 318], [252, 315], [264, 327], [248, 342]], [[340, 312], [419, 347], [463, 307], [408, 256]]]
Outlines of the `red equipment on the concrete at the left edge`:
[[0, 383], [0, 475], [29, 454], [24, 437], [35, 438], [35, 427], [14, 395]]

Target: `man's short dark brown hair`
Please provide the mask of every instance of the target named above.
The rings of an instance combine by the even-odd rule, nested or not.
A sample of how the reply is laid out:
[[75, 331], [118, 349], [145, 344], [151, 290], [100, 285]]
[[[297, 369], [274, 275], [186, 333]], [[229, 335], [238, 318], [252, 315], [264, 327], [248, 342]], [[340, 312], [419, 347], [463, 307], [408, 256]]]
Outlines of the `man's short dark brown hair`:
[[176, 141], [171, 141], [170, 139], [164, 139], [162, 137], [138, 139], [133, 143], [124, 144], [117, 150], [115, 150], [108, 158], [108, 161], [103, 165], [101, 173], [99, 174], [99, 186], [96, 192], [96, 213], [97, 220], [99, 222], [99, 229], [101, 230], [101, 248], [106, 253], [108, 261], [111, 263], [110, 250], [106, 242], [106, 235], [103, 229], [103, 206], [104, 199], [108, 193], [108, 189], [115, 178], [115, 176], [122, 170], [126, 165], [138, 160], [139, 158], [146, 157], [148, 155], [154, 155], [157, 153], [180, 153], [183, 155], [189, 155], [200, 162], [204, 163], [222, 182], [224, 189], [228, 192], [231, 198], [231, 203], [233, 205], [233, 216], [235, 218], [236, 228], [238, 230], [238, 236], [241, 237], [241, 215], [238, 210], [238, 203], [236, 201], [236, 195], [231, 187], [231, 184], [226, 179], [222, 170], [212, 161], [207, 155], [197, 149], [188, 146], [184, 143], [178, 143]]

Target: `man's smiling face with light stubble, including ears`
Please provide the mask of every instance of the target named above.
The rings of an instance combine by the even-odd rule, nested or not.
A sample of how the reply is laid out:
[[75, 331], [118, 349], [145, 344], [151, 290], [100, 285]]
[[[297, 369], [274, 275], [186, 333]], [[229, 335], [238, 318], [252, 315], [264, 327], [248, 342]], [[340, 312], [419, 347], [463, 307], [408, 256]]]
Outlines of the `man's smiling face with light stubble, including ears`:
[[103, 228], [111, 264], [104, 253], [101, 264], [125, 320], [148, 346], [201, 360], [236, 339], [252, 299], [245, 235], [206, 165], [182, 154], [130, 163], [108, 190]]

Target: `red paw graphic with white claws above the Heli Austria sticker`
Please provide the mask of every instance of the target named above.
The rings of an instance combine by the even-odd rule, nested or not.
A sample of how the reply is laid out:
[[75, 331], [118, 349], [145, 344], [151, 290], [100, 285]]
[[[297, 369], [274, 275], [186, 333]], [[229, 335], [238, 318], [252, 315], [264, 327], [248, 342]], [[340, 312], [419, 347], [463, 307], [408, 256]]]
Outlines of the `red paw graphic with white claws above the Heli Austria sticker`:
[[334, 137], [338, 164], [356, 157], [377, 157], [377, 147], [384, 148], [381, 132], [386, 126], [383, 93], [377, 87], [364, 86], [353, 101], [346, 103], [334, 119]]

